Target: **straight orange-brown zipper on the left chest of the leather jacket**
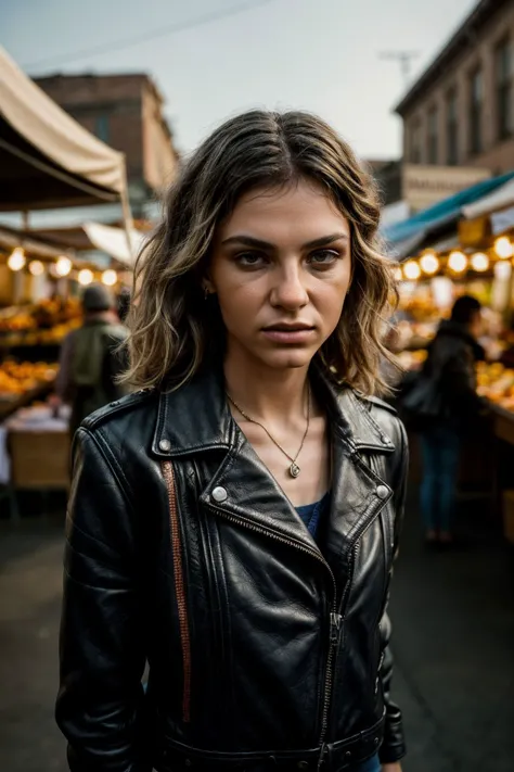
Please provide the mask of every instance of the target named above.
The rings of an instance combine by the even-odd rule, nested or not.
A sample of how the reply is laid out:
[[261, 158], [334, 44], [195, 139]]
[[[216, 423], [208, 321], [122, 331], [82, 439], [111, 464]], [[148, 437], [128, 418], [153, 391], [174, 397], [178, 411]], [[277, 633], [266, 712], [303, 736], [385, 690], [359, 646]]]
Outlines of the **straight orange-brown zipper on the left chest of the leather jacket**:
[[171, 461], [163, 463], [163, 474], [168, 491], [169, 524], [171, 536], [171, 553], [174, 556], [174, 579], [179, 615], [180, 646], [182, 649], [183, 693], [182, 720], [191, 720], [191, 637], [189, 632], [188, 600], [185, 597], [184, 574], [182, 565], [182, 542], [177, 511], [177, 491]]

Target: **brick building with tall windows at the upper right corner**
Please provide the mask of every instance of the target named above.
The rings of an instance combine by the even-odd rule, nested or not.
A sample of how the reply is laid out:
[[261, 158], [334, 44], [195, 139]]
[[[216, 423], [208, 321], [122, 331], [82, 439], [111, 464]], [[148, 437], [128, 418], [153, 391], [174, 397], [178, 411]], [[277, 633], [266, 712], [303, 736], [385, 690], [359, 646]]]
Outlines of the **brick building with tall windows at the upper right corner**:
[[409, 164], [514, 168], [514, 0], [480, 0], [396, 107]]

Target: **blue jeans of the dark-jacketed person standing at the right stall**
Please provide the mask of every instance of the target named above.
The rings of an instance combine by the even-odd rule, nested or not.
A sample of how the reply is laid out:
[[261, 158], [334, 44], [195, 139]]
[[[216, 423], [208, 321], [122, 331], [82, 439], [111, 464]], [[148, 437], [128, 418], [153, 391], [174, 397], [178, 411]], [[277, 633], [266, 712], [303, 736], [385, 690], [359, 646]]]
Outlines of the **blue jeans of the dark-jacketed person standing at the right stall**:
[[421, 434], [423, 482], [421, 510], [427, 531], [450, 531], [459, 474], [460, 440], [445, 426], [434, 426]]

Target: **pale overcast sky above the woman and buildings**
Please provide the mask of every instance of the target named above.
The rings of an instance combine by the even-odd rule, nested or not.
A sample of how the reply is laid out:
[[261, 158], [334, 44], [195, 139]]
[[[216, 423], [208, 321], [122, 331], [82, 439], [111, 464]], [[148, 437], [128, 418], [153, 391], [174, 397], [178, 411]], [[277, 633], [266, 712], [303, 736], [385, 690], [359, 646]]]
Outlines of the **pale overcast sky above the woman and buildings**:
[[[0, 0], [0, 42], [30, 75], [151, 74], [181, 151], [247, 107], [303, 107], [332, 123], [361, 156], [390, 157], [400, 151], [400, 125], [391, 107], [404, 87], [399, 64], [382, 60], [381, 52], [417, 52], [414, 77], [475, 4]], [[247, 10], [231, 14], [236, 7]], [[207, 14], [220, 16], [205, 22]], [[203, 24], [166, 31], [202, 17]], [[142, 36], [147, 36], [144, 42], [121, 47]]]

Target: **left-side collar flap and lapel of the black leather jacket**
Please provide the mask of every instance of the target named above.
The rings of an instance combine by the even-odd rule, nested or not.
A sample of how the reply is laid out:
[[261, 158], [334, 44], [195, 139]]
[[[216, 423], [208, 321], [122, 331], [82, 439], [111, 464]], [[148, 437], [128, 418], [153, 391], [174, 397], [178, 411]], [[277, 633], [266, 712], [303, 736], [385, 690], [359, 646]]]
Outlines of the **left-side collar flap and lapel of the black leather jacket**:
[[160, 459], [195, 456], [207, 484], [201, 502], [220, 517], [319, 553], [290, 499], [232, 418], [221, 372], [163, 392], [152, 443]]

